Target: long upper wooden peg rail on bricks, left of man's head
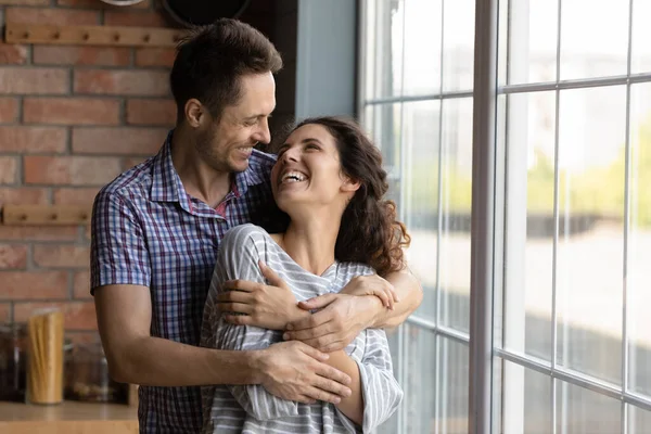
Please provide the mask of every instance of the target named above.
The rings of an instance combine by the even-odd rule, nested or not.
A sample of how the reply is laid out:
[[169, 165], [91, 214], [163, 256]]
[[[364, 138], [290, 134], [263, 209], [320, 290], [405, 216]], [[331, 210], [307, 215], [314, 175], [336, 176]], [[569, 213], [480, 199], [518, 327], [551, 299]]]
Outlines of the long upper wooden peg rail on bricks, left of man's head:
[[8, 43], [176, 47], [183, 36], [183, 30], [159, 27], [59, 26], [10, 22], [4, 28], [4, 40]]

